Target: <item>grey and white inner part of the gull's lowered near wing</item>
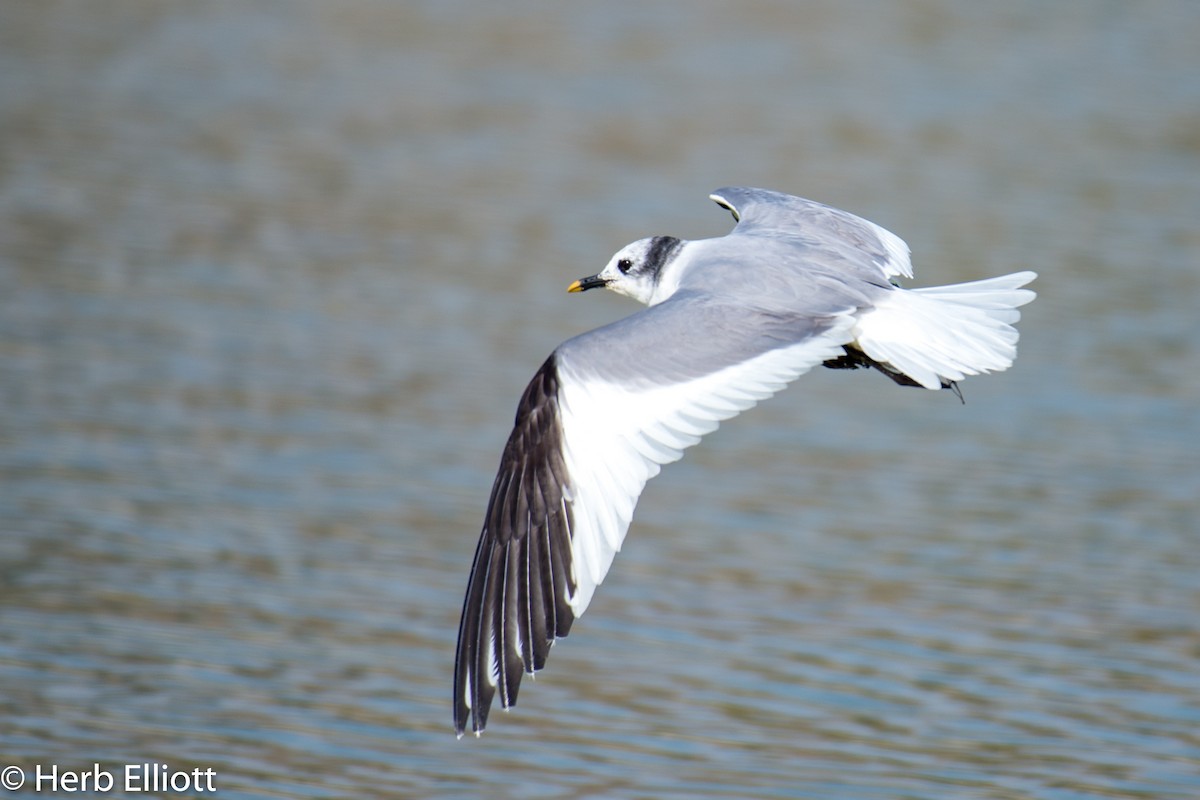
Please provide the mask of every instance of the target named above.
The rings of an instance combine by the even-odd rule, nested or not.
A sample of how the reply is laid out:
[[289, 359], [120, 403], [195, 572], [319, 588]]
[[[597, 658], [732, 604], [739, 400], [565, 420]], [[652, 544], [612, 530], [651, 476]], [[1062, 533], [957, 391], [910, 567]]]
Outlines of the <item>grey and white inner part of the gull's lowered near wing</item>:
[[[788, 318], [732, 307], [698, 309], [697, 302], [677, 295], [558, 350], [576, 616], [607, 575], [642, 488], [661, 464], [680, 458], [724, 420], [842, 354], [852, 338], [848, 307], [826, 318]], [[724, 341], [694, 326], [706, 313], [709, 331]], [[736, 321], [716, 323], [722, 315]], [[674, 337], [680, 325], [689, 326], [689, 335]], [[670, 337], [671, 345], [637, 344], [648, 330]]]

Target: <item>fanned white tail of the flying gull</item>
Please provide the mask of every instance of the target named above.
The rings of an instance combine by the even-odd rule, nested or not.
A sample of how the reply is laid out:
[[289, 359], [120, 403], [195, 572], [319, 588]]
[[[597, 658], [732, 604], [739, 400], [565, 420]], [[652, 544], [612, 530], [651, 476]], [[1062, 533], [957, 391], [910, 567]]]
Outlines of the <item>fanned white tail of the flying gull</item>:
[[896, 289], [858, 318], [854, 345], [925, 389], [982, 372], [1008, 369], [1016, 357], [1022, 289], [1036, 272], [926, 289]]

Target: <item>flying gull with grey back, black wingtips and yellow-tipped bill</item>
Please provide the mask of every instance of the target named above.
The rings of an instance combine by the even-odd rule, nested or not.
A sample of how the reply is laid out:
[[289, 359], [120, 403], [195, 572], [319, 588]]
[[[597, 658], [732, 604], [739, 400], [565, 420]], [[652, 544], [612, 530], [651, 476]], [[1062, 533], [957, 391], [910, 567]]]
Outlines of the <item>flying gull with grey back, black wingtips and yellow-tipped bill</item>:
[[458, 627], [460, 738], [484, 730], [497, 693], [516, 703], [590, 603], [646, 482], [721, 421], [816, 366], [958, 392], [1016, 356], [1036, 273], [902, 289], [908, 246], [872, 222], [760, 188], [710, 199], [733, 215], [727, 235], [642, 239], [568, 287], [648, 308], [560, 344], [517, 404]]

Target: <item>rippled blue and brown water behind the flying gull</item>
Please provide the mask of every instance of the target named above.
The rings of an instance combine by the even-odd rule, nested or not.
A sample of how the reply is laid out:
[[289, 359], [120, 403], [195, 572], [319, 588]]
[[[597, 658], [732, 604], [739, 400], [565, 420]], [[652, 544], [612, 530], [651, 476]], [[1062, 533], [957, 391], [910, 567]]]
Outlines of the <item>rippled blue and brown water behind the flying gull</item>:
[[[1196, 41], [1188, 2], [4, 5], [0, 768], [1200, 795]], [[456, 741], [517, 396], [634, 309], [563, 289], [720, 235], [727, 184], [863, 213], [926, 283], [1037, 269], [1018, 365], [726, 425]]]

